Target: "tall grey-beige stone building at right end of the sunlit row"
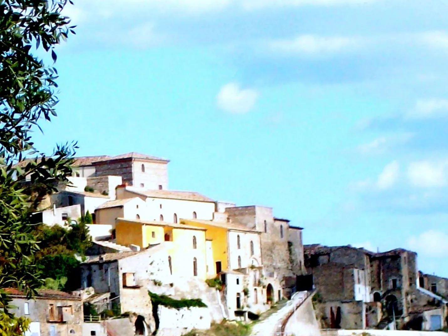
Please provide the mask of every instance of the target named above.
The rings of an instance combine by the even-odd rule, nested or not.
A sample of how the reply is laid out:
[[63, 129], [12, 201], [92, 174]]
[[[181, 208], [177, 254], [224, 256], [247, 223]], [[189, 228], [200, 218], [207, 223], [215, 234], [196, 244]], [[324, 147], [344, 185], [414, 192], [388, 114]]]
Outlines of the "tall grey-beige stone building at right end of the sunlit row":
[[280, 279], [302, 274], [302, 228], [289, 226], [289, 220], [275, 218], [270, 207], [227, 207], [230, 223], [238, 223], [261, 233], [263, 265], [275, 271]]

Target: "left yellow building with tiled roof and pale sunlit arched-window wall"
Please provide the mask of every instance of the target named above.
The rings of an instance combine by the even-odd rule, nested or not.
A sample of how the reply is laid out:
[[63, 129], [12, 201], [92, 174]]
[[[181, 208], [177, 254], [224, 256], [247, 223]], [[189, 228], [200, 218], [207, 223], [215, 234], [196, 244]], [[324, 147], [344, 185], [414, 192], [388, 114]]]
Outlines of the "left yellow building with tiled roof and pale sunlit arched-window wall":
[[207, 279], [206, 228], [117, 218], [116, 243], [146, 248], [164, 242], [172, 275]]

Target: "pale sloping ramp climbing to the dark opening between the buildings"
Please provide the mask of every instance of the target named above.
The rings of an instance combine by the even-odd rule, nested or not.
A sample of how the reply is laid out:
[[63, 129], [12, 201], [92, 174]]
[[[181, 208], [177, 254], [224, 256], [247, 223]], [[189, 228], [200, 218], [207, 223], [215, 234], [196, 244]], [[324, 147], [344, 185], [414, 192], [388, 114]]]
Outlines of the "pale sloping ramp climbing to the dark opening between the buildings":
[[302, 302], [308, 297], [307, 292], [297, 292], [293, 294], [284, 307], [276, 311], [267, 319], [256, 323], [252, 328], [250, 336], [278, 336], [281, 335], [282, 324], [285, 319], [288, 319], [291, 312], [297, 309]]

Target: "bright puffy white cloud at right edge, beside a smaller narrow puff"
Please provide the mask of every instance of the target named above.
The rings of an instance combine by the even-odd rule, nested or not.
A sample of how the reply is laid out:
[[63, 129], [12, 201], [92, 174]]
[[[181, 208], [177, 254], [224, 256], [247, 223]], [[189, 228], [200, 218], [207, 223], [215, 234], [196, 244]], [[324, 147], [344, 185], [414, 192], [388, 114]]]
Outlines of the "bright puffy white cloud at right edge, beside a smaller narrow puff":
[[442, 187], [447, 184], [448, 162], [412, 162], [408, 166], [411, 185], [417, 187]]

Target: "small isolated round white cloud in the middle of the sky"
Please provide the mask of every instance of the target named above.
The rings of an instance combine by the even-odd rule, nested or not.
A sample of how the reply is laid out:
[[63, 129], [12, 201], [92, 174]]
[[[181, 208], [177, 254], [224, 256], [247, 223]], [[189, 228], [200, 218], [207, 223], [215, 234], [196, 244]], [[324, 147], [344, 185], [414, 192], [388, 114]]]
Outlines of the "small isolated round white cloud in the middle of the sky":
[[221, 87], [216, 98], [221, 110], [231, 113], [246, 113], [254, 107], [258, 92], [253, 89], [240, 89], [237, 83], [228, 83]]

